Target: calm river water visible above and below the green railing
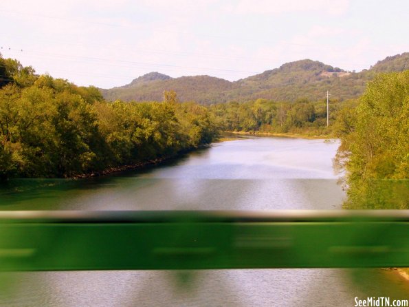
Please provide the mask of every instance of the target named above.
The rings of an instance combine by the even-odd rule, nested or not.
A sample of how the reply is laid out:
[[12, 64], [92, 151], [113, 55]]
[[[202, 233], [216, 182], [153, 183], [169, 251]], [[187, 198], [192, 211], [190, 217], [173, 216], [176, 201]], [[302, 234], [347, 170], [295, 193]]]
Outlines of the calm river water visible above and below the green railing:
[[[2, 210], [340, 209], [338, 142], [241, 138], [164, 165], [86, 180], [12, 180]], [[13, 275], [3, 306], [354, 306], [409, 295], [393, 271], [85, 271]]]

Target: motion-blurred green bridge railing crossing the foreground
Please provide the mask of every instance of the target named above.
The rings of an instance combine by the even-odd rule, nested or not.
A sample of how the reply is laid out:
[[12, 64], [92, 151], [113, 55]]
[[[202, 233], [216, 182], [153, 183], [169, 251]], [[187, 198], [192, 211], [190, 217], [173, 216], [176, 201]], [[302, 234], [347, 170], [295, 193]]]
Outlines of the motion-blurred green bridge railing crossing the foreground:
[[0, 271], [409, 266], [409, 211], [0, 211]]

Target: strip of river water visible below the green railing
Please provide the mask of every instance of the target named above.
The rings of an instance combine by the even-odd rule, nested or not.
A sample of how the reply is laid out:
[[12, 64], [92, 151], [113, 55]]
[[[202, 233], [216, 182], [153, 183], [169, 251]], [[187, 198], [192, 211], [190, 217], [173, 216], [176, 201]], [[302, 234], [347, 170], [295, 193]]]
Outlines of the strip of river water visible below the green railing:
[[[354, 298], [407, 299], [408, 282], [375, 269], [16, 273], [2, 306], [354, 306]], [[50, 291], [52, 289], [52, 291]], [[27, 298], [30, 297], [30, 300]]]

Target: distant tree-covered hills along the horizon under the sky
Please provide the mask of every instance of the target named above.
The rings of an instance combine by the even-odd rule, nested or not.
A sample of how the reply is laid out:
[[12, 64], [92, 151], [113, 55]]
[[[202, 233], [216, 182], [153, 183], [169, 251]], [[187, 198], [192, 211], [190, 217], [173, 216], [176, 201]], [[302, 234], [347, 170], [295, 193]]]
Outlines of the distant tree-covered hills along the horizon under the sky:
[[107, 100], [162, 100], [164, 90], [174, 90], [182, 101], [202, 104], [225, 103], [265, 98], [294, 101], [299, 98], [320, 100], [329, 90], [331, 98], [346, 100], [360, 96], [365, 85], [378, 72], [409, 69], [409, 52], [388, 56], [369, 70], [346, 72], [338, 67], [309, 59], [285, 63], [274, 70], [230, 82], [212, 76], [172, 78], [150, 72], [128, 85], [101, 89]]

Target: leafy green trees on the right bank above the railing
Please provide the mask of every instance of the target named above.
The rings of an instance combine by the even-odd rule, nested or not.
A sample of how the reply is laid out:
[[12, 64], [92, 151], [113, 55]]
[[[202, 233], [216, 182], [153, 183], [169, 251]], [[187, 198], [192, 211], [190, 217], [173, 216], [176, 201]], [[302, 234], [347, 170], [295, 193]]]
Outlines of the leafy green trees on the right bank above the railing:
[[347, 172], [347, 207], [409, 209], [408, 118], [409, 70], [379, 74], [356, 114], [342, 112], [337, 158]]

